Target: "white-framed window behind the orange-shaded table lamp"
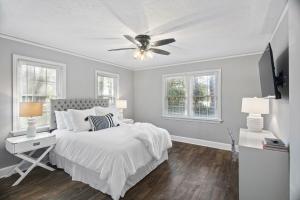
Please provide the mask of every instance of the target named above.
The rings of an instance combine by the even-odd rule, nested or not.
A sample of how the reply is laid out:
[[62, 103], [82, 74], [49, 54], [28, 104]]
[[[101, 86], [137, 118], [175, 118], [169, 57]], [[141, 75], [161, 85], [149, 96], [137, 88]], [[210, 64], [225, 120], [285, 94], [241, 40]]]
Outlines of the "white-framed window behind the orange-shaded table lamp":
[[13, 55], [13, 130], [27, 127], [27, 119], [19, 117], [20, 102], [42, 102], [43, 115], [37, 118], [37, 127], [50, 123], [50, 99], [65, 98], [66, 65]]

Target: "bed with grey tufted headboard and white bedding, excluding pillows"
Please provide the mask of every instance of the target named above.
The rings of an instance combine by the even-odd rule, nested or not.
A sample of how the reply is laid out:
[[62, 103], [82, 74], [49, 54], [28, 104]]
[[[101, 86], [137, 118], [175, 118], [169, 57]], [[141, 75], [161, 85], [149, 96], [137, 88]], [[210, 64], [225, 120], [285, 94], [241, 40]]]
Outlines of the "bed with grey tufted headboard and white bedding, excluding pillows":
[[[51, 129], [55, 111], [107, 107], [101, 99], [51, 100]], [[169, 133], [148, 123], [120, 124], [100, 131], [54, 130], [57, 142], [50, 162], [114, 200], [168, 159]]]

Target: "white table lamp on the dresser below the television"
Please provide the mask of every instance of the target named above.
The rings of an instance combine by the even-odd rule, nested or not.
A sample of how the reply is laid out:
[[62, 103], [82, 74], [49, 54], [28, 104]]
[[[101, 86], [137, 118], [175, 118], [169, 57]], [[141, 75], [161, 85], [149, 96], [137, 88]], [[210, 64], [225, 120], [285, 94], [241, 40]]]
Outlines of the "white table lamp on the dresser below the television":
[[261, 132], [264, 127], [264, 118], [261, 114], [269, 114], [269, 99], [243, 98], [242, 112], [249, 113], [247, 117], [248, 130]]

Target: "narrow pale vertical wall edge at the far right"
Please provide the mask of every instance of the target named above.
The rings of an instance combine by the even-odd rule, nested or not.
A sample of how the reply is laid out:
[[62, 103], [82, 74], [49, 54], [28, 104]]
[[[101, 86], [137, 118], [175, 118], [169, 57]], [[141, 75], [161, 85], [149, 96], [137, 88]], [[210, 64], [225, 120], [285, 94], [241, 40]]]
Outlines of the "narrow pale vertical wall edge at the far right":
[[300, 1], [289, 1], [290, 199], [300, 199]]

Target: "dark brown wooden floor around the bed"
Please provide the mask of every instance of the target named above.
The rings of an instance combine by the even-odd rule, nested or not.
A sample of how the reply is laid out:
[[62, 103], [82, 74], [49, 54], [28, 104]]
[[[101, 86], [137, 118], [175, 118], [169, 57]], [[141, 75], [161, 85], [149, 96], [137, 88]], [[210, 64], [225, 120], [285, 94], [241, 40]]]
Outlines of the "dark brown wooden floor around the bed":
[[[169, 160], [130, 189], [124, 200], [237, 200], [238, 166], [230, 152], [173, 143]], [[71, 181], [63, 170], [37, 167], [18, 186], [18, 178], [0, 179], [0, 199], [110, 200], [86, 184]]]

